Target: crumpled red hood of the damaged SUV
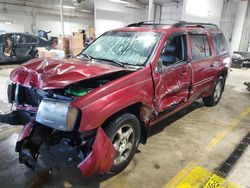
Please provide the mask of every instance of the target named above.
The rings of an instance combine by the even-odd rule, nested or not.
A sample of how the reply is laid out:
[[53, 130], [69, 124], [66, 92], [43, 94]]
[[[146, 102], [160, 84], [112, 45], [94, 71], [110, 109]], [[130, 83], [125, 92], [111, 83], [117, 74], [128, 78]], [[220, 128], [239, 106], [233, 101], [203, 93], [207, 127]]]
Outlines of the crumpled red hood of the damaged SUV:
[[10, 79], [22, 86], [60, 89], [67, 85], [113, 72], [124, 71], [112, 65], [79, 59], [34, 59], [16, 68]]

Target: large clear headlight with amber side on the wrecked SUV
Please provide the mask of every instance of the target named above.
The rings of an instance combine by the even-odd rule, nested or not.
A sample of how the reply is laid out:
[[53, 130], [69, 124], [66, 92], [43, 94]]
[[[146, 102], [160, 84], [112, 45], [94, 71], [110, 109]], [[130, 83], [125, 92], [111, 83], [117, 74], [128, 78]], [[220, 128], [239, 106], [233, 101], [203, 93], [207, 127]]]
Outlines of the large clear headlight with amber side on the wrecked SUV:
[[79, 110], [70, 106], [70, 102], [43, 99], [39, 105], [36, 121], [61, 131], [72, 131], [75, 127]]

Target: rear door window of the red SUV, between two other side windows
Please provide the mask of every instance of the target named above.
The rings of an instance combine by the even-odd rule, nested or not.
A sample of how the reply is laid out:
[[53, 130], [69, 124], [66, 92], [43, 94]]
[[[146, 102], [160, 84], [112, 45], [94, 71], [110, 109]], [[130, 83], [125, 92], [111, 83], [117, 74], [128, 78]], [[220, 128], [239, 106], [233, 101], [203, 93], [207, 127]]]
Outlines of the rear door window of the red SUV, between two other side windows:
[[198, 60], [211, 55], [206, 34], [190, 34], [192, 60]]

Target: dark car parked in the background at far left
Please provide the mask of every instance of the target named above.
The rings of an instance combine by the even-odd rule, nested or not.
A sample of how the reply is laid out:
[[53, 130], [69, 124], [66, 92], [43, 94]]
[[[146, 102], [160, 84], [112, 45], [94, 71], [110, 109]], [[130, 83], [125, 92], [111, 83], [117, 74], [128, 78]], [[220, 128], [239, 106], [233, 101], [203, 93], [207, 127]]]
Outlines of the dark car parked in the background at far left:
[[46, 40], [28, 33], [0, 35], [0, 64], [23, 63], [37, 56], [37, 48], [52, 48], [56, 38]]

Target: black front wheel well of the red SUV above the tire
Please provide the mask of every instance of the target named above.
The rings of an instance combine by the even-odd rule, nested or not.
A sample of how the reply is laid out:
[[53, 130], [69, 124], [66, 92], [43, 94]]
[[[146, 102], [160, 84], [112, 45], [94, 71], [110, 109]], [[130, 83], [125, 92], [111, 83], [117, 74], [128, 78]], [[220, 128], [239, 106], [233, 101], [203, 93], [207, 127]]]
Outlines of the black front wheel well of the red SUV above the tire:
[[108, 117], [104, 121], [104, 123], [102, 124], [102, 127], [107, 126], [116, 117], [118, 117], [124, 113], [131, 113], [131, 114], [135, 115], [140, 122], [140, 127], [141, 127], [141, 141], [140, 142], [142, 144], [146, 144], [146, 140], [147, 140], [147, 136], [148, 136], [148, 127], [145, 126], [145, 124], [141, 121], [141, 118], [140, 118], [141, 107], [142, 107], [141, 103], [135, 103], [135, 104], [132, 104], [132, 105], [114, 113], [113, 115], [111, 115], [110, 117]]

